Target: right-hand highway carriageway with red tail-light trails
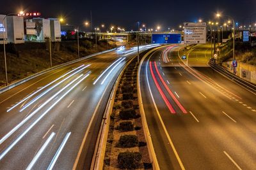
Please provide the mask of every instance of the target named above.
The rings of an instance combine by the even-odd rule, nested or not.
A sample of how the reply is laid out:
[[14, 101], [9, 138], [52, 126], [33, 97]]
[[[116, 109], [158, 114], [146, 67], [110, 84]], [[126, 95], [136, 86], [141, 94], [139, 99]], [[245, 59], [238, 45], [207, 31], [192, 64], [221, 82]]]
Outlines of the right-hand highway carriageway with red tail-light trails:
[[[141, 66], [140, 87], [161, 169], [255, 169], [255, 94], [207, 65], [209, 45], [170, 45]], [[186, 55], [186, 59], [180, 57]]]

